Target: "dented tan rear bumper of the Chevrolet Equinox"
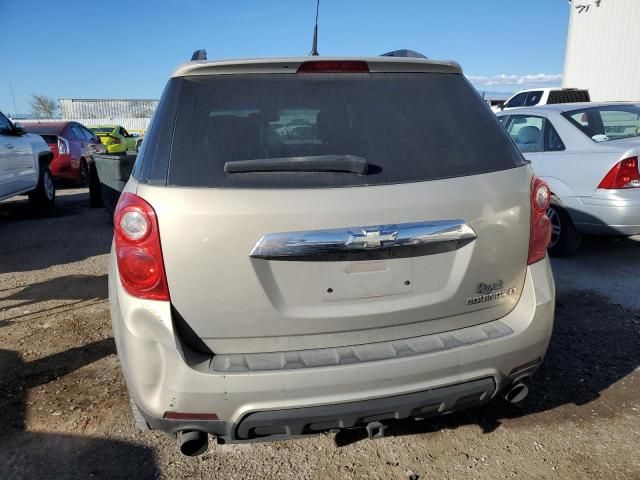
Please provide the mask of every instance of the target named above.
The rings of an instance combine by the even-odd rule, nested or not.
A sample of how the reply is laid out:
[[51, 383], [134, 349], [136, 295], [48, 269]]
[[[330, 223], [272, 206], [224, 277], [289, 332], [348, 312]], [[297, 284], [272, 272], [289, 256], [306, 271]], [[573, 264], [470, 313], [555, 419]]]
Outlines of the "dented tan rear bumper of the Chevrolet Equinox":
[[[168, 303], [123, 291], [113, 257], [109, 290], [127, 386], [149, 424], [170, 433], [204, 430], [223, 441], [316, 433], [372, 418], [424, 417], [488, 401], [537, 368], [551, 336], [555, 301], [545, 259], [528, 268], [517, 306], [497, 321], [510, 329], [507, 335], [352, 365], [215, 372], [211, 357], [177, 339]], [[219, 420], [166, 420], [167, 411], [215, 413]]]

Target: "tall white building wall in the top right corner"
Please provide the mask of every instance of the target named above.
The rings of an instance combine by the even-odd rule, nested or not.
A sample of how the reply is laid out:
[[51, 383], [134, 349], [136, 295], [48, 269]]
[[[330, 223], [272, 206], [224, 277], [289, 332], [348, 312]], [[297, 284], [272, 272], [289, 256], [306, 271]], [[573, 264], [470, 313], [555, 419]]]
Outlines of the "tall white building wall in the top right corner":
[[563, 87], [640, 102], [640, 0], [569, 0]]

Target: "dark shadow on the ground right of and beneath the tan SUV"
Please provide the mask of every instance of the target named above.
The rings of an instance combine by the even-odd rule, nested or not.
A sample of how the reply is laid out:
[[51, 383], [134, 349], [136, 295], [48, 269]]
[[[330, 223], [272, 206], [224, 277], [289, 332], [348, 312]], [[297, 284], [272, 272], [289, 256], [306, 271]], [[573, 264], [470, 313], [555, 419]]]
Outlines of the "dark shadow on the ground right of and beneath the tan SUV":
[[[602, 392], [640, 366], [640, 312], [611, 304], [593, 292], [561, 293], [557, 298], [556, 323], [544, 363], [534, 377], [528, 398], [520, 405], [501, 399], [473, 409], [420, 422], [392, 422], [386, 435], [415, 435], [478, 425], [494, 431], [505, 419], [549, 412], [566, 405], [589, 405], [600, 417], [613, 415], [615, 405], [596, 405]], [[633, 392], [629, 392], [633, 401]], [[614, 402], [616, 403], [616, 402]], [[537, 423], [559, 423], [562, 412], [537, 416]], [[336, 435], [344, 446], [366, 438], [363, 430], [345, 430]]]

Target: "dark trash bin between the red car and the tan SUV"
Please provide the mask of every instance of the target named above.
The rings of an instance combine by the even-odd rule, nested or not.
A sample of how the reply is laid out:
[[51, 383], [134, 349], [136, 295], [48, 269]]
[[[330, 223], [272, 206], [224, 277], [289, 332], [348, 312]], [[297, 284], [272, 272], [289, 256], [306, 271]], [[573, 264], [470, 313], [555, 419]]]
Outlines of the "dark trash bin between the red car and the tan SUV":
[[96, 172], [100, 182], [102, 203], [110, 214], [116, 209], [124, 186], [127, 184], [136, 155], [129, 154], [96, 154], [93, 155]]

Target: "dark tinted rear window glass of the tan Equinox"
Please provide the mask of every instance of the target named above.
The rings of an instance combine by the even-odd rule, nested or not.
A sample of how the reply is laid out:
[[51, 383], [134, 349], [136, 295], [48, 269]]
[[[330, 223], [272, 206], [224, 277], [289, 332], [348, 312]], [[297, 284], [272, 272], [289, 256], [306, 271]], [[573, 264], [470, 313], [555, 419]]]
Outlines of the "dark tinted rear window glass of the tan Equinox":
[[[226, 173], [237, 160], [353, 155], [352, 172]], [[146, 159], [145, 159], [146, 162]], [[170, 185], [305, 188], [416, 182], [513, 168], [522, 157], [462, 75], [186, 77]]]

